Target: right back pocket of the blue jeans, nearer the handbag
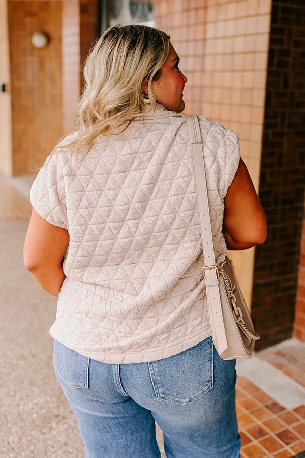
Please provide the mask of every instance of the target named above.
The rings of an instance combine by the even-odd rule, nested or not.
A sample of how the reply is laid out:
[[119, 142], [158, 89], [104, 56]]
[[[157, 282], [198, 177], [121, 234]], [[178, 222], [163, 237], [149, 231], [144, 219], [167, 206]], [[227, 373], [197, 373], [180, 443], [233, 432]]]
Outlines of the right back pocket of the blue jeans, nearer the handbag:
[[178, 355], [148, 363], [158, 399], [189, 404], [213, 387], [213, 342], [211, 337]]

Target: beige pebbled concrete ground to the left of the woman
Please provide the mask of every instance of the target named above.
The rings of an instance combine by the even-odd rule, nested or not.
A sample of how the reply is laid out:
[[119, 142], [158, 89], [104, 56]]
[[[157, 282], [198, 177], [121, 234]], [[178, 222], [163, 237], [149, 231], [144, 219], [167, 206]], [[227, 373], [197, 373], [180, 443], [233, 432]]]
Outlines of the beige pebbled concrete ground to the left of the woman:
[[0, 218], [0, 457], [83, 458], [77, 420], [53, 371], [56, 298], [22, 262], [27, 225]]

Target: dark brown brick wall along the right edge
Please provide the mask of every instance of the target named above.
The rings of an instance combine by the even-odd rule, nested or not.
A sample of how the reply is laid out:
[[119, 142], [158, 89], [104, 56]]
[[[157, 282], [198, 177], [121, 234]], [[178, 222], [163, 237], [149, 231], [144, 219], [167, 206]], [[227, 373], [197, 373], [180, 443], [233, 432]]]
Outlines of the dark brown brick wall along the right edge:
[[[252, 316], [258, 348], [291, 337], [305, 187], [305, 4], [272, 2], [259, 196], [268, 238], [256, 248]], [[304, 249], [304, 243], [302, 244]], [[304, 335], [304, 257], [295, 332]]]

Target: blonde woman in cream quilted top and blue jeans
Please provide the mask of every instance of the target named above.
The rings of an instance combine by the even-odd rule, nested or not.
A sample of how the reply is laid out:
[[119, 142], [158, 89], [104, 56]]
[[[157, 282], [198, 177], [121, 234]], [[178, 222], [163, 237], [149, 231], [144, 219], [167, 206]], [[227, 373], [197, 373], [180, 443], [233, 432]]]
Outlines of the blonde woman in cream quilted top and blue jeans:
[[[169, 37], [110, 28], [85, 66], [77, 130], [31, 190], [24, 263], [58, 296], [54, 367], [87, 458], [237, 458], [235, 361], [211, 340], [187, 78]], [[235, 132], [200, 117], [218, 263], [263, 243]]]

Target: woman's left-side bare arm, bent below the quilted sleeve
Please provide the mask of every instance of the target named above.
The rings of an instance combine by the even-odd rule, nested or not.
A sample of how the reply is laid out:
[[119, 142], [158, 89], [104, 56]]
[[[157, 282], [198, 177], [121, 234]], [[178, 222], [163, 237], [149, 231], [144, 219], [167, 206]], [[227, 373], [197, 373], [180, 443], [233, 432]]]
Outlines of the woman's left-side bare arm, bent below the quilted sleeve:
[[68, 231], [48, 223], [33, 209], [23, 261], [41, 288], [53, 296], [58, 296], [65, 279], [62, 260], [68, 245]]

